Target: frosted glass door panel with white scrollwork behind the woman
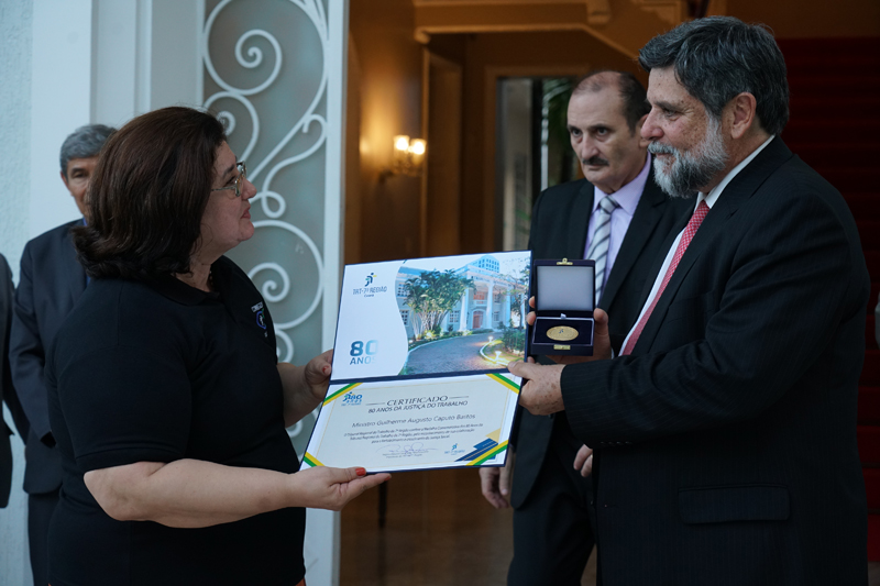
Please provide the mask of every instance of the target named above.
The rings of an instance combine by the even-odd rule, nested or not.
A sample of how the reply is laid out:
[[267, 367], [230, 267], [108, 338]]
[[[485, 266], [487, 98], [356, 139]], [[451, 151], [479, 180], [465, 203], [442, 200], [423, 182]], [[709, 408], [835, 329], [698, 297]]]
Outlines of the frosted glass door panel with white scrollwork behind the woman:
[[[265, 298], [285, 362], [302, 363], [321, 350], [326, 2], [206, 2], [204, 107], [226, 124], [257, 188], [256, 233], [230, 256]], [[299, 453], [310, 429], [299, 422], [289, 430]]]

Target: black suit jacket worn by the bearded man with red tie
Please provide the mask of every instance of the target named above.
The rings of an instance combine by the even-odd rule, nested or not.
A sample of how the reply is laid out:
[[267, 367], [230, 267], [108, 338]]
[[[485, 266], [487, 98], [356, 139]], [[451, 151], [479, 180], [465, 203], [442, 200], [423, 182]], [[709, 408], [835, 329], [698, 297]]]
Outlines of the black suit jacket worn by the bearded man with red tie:
[[776, 139], [708, 212], [632, 355], [562, 372], [596, 447], [606, 586], [867, 583], [869, 288], [844, 199]]

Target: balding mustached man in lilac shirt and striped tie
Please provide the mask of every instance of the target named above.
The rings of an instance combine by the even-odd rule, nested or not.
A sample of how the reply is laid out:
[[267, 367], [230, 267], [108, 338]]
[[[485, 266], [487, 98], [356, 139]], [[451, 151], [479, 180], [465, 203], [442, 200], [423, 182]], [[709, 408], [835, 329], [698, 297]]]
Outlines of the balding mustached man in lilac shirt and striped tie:
[[[569, 101], [571, 145], [584, 179], [541, 194], [532, 213], [535, 258], [596, 262], [595, 299], [612, 318], [617, 350], [638, 317], [648, 269], [679, 217], [692, 207], [671, 200], [653, 180], [648, 142], [639, 135], [648, 113], [644, 86], [632, 74], [595, 71]], [[509, 585], [580, 585], [593, 550], [588, 471], [574, 467], [583, 443], [564, 413], [521, 410], [513, 475], [514, 561]], [[508, 506], [505, 471], [481, 468], [483, 494]], [[582, 475], [583, 472], [583, 475]]]

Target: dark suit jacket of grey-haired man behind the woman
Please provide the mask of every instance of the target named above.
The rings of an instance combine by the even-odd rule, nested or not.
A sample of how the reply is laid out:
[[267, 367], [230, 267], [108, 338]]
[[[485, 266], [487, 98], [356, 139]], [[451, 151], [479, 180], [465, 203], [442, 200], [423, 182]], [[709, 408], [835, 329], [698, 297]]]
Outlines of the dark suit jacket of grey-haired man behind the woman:
[[[43, 366], [55, 334], [86, 289], [86, 272], [76, 259], [70, 229], [54, 228], [24, 246], [15, 290], [10, 363], [12, 380], [31, 423], [25, 444], [24, 490], [44, 494], [62, 484], [61, 456], [53, 447]], [[42, 441], [41, 441], [42, 440]]]

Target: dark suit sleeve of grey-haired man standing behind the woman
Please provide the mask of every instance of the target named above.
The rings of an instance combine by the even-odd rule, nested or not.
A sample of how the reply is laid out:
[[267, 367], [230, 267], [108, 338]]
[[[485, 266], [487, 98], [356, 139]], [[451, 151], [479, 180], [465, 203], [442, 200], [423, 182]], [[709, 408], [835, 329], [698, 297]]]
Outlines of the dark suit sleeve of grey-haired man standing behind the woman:
[[15, 388], [28, 420], [36, 436], [44, 443], [53, 445], [46, 387], [43, 380], [46, 349], [43, 347], [40, 338], [37, 311], [34, 307], [33, 258], [30, 243], [24, 247], [21, 257], [9, 357]]

